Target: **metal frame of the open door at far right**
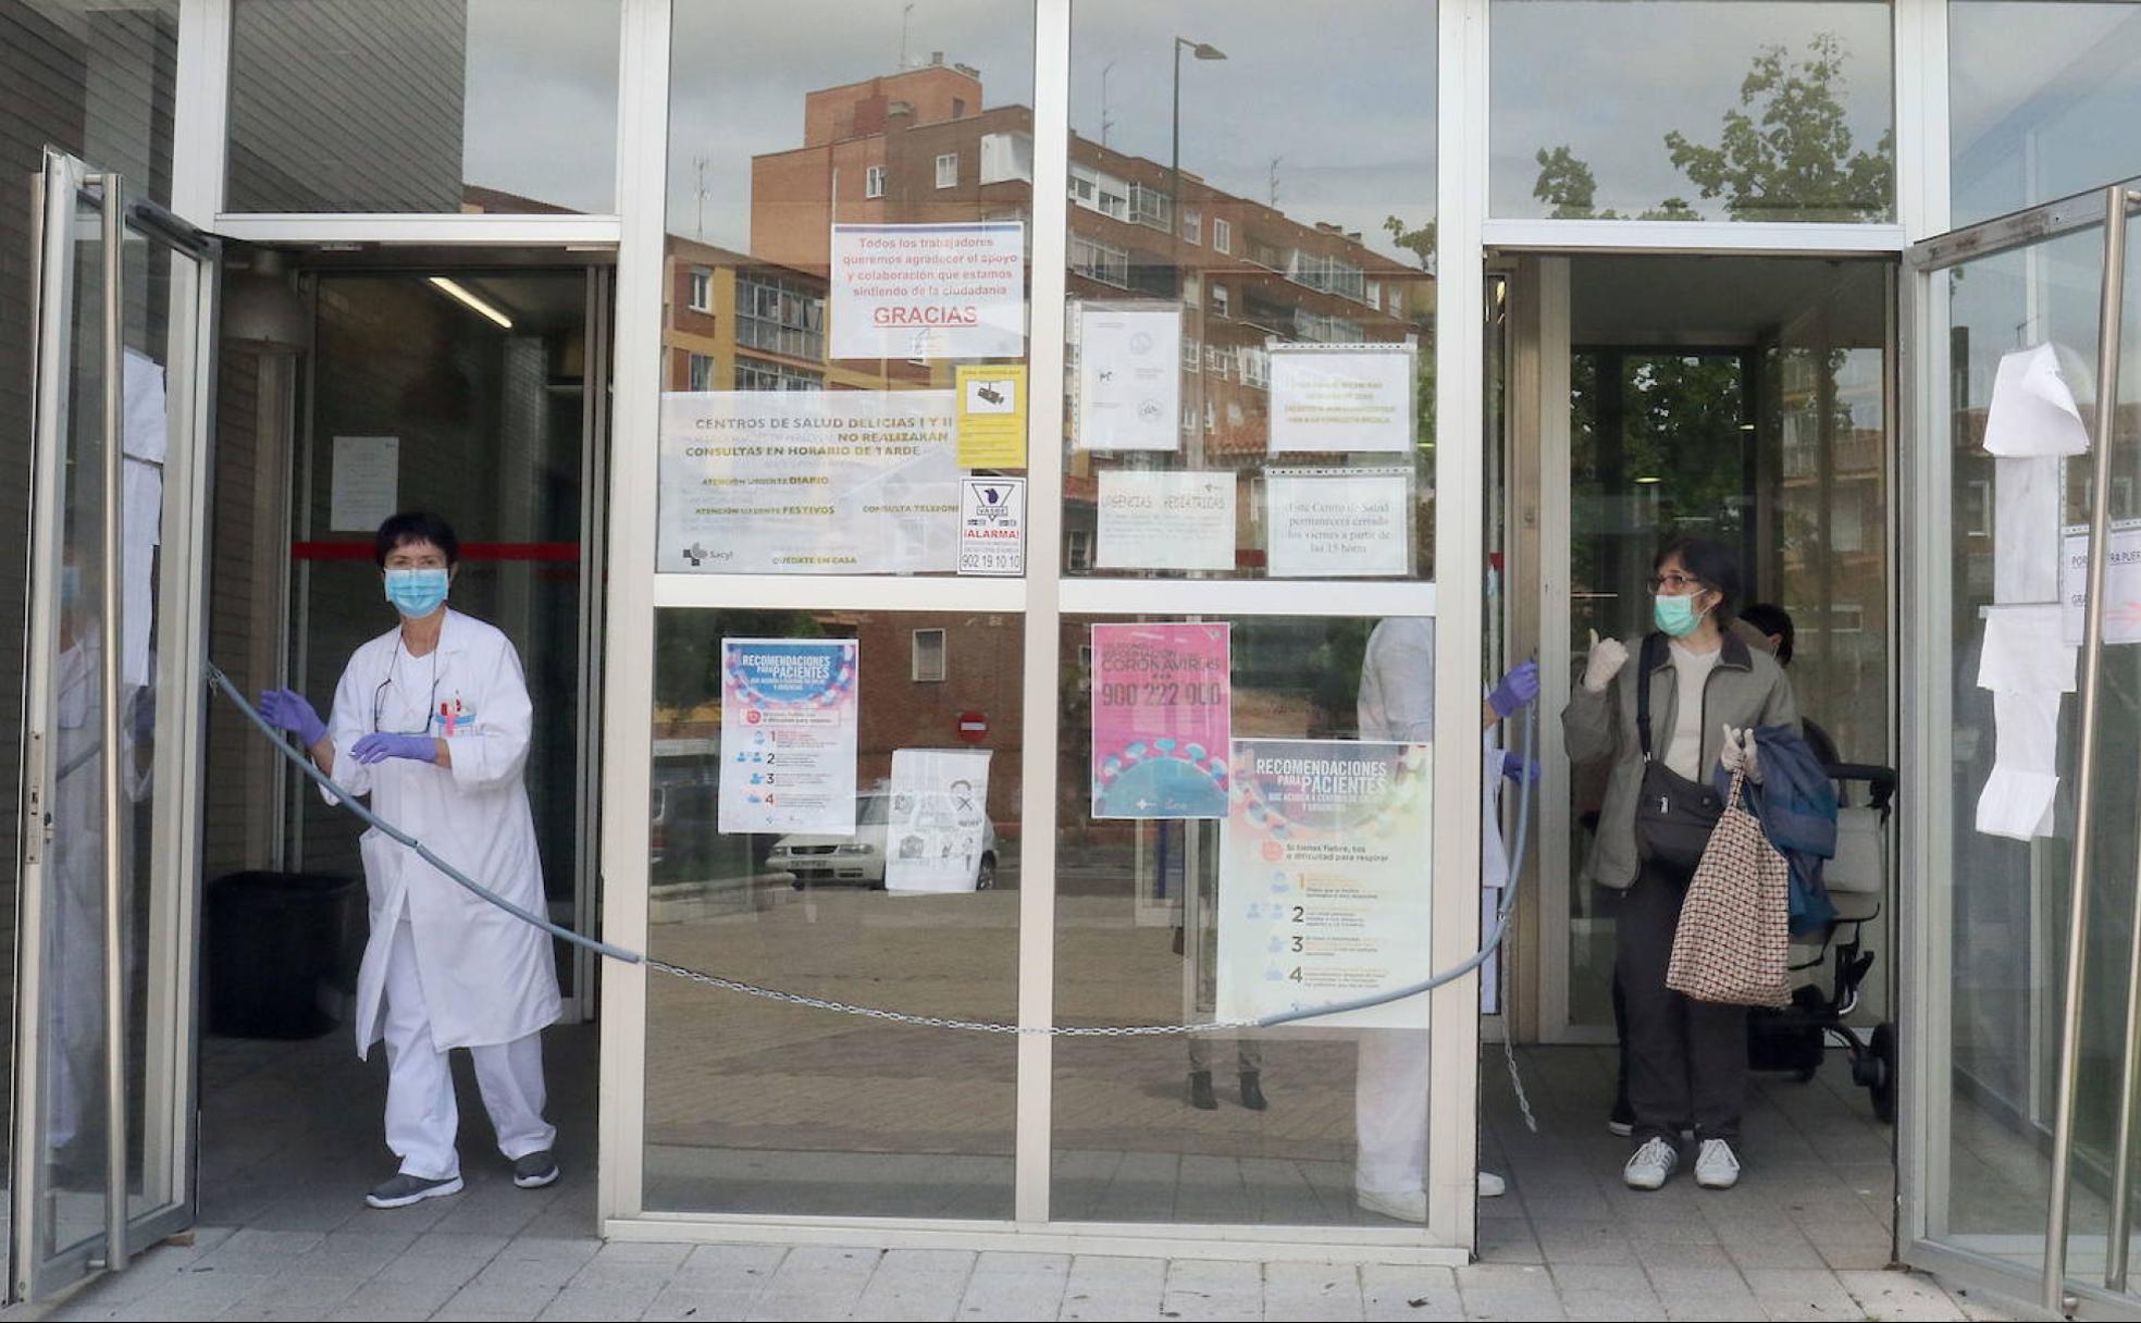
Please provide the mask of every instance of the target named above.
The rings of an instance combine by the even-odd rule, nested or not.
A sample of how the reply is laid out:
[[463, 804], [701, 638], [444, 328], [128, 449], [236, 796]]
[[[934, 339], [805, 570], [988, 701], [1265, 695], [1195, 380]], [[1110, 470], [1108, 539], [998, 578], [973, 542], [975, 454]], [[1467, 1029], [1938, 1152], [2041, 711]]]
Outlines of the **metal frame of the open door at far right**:
[[[2096, 758], [2096, 700], [2102, 659], [2102, 617], [2090, 612], [2081, 647], [2077, 754], [2077, 824], [2075, 858], [2068, 888], [2068, 957], [2062, 970], [2064, 1006], [2060, 1015], [2060, 1079], [2055, 1130], [2051, 1141], [2051, 1190], [2045, 1207], [2043, 1269], [2030, 1280], [2030, 1269], [1993, 1254], [1963, 1250], [1942, 1237], [1948, 1203], [1948, 1096], [1953, 1064], [1950, 1023], [1942, 1008], [1953, 974], [1953, 901], [1946, 888], [1944, 861], [1953, 854], [1953, 728], [1948, 724], [1953, 689], [1953, 503], [1950, 484], [1953, 439], [1948, 435], [1948, 298], [1935, 280], [1965, 261], [2028, 248], [2032, 244], [2105, 229], [2102, 302], [2098, 308], [2096, 417], [2117, 415], [2120, 332], [2126, 295], [2126, 221], [2141, 210], [2141, 180], [2109, 184], [2060, 201], [2043, 203], [2010, 216], [1985, 221], [1914, 244], [1903, 255], [1903, 315], [1899, 366], [1905, 372], [1901, 392], [1901, 602], [1905, 629], [1903, 676], [1903, 796], [1901, 796], [1901, 985], [1899, 1023], [1901, 1077], [1897, 1115], [1897, 1246], [1912, 1267], [1978, 1284], [2013, 1297], [2034, 1297], [2051, 1314], [2130, 1317], [2124, 1254], [2107, 1254], [2107, 1282], [2075, 1282], [2066, 1274], [2068, 1254], [2068, 1173], [2075, 1147], [2075, 1096], [2079, 1075], [2081, 987], [2087, 946], [2087, 893], [2092, 884], [2090, 803]], [[2092, 445], [2105, 454], [2100, 443]], [[2090, 492], [2090, 595], [2102, 595], [2111, 465], [2092, 465]], [[2117, 867], [2117, 863], [2113, 863]], [[2141, 993], [2141, 929], [2137, 929], [2135, 961], [2128, 968], [2128, 991]], [[2128, 1015], [2128, 1081], [2122, 1096], [2120, 1150], [2126, 1154], [2135, 1135], [2137, 1088], [2132, 1062], [2141, 1019]], [[2115, 1173], [2113, 1227], [2109, 1244], [2126, 1244], [2128, 1173], [2120, 1162]], [[2028, 1250], [2028, 1246], [2017, 1246]]]

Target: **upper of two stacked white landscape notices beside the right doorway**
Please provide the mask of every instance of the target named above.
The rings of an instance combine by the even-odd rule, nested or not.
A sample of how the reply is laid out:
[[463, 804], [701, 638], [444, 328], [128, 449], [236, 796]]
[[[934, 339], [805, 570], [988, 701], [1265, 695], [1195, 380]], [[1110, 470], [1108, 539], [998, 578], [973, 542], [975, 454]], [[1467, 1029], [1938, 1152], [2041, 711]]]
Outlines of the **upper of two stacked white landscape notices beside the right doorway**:
[[1272, 454], [1411, 452], [1411, 345], [1272, 345]]

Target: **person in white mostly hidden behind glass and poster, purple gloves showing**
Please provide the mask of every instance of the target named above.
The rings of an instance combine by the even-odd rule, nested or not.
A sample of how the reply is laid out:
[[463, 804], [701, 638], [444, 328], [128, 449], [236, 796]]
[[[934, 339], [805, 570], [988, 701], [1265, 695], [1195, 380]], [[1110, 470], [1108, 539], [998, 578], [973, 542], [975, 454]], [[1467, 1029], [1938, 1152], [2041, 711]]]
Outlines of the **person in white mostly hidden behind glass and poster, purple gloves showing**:
[[[1522, 664], [1501, 679], [1479, 704], [1482, 730], [1492, 728], [1539, 696], [1537, 664]], [[1434, 621], [1402, 617], [1379, 621], [1360, 666], [1360, 739], [1428, 743], [1434, 739]], [[1497, 754], [1503, 775], [1531, 775], [1514, 754]], [[1486, 781], [1494, 803], [1499, 777]], [[1497, 846], [1488, 848], [1490, 863]], [[1503, 863], [1507, 871], [1507, 863]], [[1499, 878], [1488, 878], [1490, 884]], [[1375, 1214], [1404, 1222], [1428, 1220], [1428, 1032], [1360, 1030], [1353, 1077], [1353, 1197]], [[1479, 1173], [1479, 1195], [1503, 1192], [1503, 1180]]]

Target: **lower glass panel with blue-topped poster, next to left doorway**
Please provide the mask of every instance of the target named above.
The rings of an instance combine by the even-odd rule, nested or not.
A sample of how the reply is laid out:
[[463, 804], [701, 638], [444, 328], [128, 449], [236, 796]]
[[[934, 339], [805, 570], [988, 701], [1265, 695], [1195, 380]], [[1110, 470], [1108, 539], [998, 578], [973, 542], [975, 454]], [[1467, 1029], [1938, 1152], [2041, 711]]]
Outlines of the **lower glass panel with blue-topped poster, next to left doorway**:
[[[1015, 614], [657, 612], [649, 953], [1017, 1019], [1023, 655]], [[1015, 1109], [1008, 1034], [649, 985], [651, 1210], [1008, 1218]]]

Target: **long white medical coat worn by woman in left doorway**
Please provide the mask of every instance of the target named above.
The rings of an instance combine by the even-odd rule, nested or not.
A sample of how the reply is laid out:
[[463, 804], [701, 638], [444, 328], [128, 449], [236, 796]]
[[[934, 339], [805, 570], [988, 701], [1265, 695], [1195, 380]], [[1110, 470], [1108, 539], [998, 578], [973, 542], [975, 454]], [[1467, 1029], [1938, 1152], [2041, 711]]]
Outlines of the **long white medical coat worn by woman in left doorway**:
[[[520, 657], [492, 625], [445, 612], [439, 649], [417, 657], [424, 694], [388, 685], [400, 627], [366, 642], [334, 689], [328, 732], [334, 779], [370, 796], [375, 813], [424, 841], [439, 858], [522, 910], [542, 914], [542, 861], [522, 769], [533, 709]], [[437, 681], [426, 662], [437, 662]], [[403, 674], [409, 659], [403, 655]], [[420, 724], [447, 741], [454, 766], [388, 758], [364, 766], [349, 749], [379, 730]], [[334, 803], [334, 796], [328, 796]], [[394, 925], [409, 921], [417, 976], [439, 1051], [525, 1038], [559, 1017], [550, 936], [424, 863], [379, 828], [360, 839], [373, 931], [358, 970], [358, 1055], [381, 1036], [388, 951]]]

